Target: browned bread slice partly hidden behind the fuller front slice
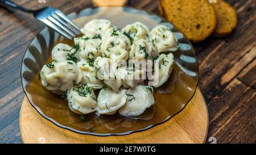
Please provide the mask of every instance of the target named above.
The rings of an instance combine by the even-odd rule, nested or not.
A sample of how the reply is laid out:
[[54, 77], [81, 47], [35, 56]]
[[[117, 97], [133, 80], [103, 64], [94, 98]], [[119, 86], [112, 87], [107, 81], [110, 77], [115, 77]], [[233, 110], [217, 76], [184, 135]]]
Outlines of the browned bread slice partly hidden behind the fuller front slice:
[[211, 3], [211, 5], [214, 7], [217, 15], [217, 26], [213, 31], [213, 36], [228, 36], [237, 27], [236, 10], [222, 0], [217, 0], [217, 3]]

